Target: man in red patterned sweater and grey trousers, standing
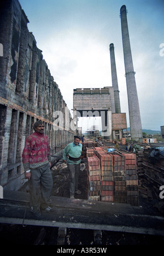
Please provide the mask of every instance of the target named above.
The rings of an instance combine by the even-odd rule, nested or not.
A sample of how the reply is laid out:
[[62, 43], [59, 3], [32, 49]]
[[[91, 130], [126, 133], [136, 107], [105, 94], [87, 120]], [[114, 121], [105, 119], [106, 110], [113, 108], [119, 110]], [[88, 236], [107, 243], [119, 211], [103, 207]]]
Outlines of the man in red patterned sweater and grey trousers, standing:
[[49, 139], [44, 134], [42, 121], [34, 123], [33, 129], [34, 132], [26, 138], [22, 162], [25, 178], [30, 181], [31, 210], [34, 218], [40, 219], [42, 217], [40, 209], [56, 212], [56, 208], [50, 206], [53, 181], [50, 170]]

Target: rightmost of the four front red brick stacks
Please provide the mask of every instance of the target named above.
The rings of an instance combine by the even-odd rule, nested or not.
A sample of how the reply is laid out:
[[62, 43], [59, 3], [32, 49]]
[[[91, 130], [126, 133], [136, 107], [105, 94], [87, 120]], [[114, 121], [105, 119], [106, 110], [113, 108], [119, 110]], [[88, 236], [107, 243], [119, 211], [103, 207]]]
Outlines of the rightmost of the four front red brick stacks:
[[138, 176], [137, 176], [137, 162], [136, 154], [122, 153], [126, 161], [126, 190], [127, 203], [138, 206]]

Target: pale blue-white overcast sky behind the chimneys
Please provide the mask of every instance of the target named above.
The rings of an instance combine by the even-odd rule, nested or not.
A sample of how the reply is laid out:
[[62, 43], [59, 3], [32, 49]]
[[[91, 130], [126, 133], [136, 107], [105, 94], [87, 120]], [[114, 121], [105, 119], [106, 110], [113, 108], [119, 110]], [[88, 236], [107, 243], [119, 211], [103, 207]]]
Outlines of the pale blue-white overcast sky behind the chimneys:
[[[125, 4], [142, 128], [160, 130], [164, 125], [163, 0], [19, 2], [69, 110], [73, 89], [112, 86], [109, 44], [114, 44], [121, 112], [126, 113], [129, 126], [119, 16]], [[82, 123], [86, 124], [84, 119]]]

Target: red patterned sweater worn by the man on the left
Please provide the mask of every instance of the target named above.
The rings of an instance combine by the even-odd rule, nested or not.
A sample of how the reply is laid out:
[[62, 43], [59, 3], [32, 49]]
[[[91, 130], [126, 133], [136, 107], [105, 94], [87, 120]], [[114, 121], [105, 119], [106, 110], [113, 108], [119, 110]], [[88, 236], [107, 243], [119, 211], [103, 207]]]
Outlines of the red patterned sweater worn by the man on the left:
[[35, 131], [25, 141], [22, 153], [24, 170], [40, 168], [50, 161], [49, 139], [44, 133]]

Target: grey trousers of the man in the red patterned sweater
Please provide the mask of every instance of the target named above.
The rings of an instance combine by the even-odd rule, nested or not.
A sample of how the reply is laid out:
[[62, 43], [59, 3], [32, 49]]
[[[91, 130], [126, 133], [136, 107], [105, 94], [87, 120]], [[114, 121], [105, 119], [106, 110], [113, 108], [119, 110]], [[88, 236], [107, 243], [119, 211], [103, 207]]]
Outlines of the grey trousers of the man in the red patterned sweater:
[[50, 205], [52, 186], [53, 181], [49, 164], [42, 168], [31, 170], [30, 203], [33, 212], [37, 211], [40, 207], [44, 209]]

